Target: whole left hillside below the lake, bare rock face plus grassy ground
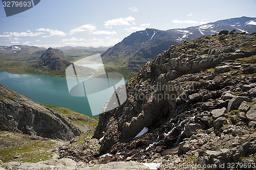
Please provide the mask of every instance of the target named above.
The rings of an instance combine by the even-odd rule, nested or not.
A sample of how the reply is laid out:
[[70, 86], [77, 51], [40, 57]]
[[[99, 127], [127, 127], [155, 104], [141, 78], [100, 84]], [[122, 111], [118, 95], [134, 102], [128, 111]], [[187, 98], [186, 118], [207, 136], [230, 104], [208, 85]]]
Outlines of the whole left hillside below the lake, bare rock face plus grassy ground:
[[4, 162], [51, 159], [69, 140], [92, 136], [97, 122], [70, 109], [35, 103], [0, 85], [0, 159]]

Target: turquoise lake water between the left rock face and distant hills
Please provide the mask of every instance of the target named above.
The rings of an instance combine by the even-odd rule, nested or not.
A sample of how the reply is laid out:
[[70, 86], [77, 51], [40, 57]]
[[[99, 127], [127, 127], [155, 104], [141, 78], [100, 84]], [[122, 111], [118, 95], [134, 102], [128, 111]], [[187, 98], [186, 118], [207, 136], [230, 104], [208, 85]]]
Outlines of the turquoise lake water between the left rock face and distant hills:
[[[28, 98], [35, 102], [65, 107], [78, 113], [93, 116], [87, 97], [72, 96], [69, 93], [65, 77], [10, 74], [4, 71], [0, 72], [0, 84], [28, 96]], [[95, 103], [108, 100], [109, 98], [101, 96], [101, 98], [95, 98]], [[98, 115], [95, 116], [97, 117]]]

